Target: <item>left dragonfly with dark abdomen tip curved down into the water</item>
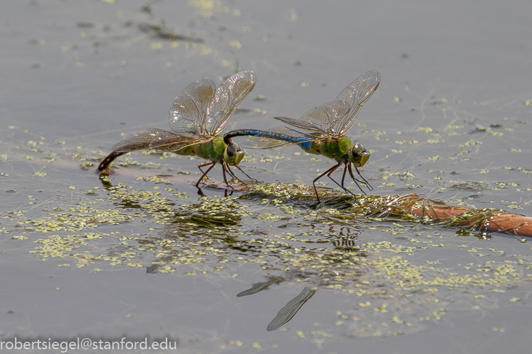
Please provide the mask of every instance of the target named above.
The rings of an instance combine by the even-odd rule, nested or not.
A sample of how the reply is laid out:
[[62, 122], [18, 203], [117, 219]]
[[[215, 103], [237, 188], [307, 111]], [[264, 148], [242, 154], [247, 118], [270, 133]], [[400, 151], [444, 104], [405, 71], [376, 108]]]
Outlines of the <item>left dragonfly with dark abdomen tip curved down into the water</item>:
[[[195, 186], [214, 168], [221, 164], [223, 181], [227, 181], [226, 172], [245, 184], [232, 172], [234, 166], [251, 179], [238, 164], [244, 157], [244, 151], [231, 139], [223, 139], [221, 131], [228, 125], [237, 106], [256, 83], [253, 71], [241, 71], [229, 77], [218, 88], [208, 77], [199, 79], [186, 88], [173, 100], [170, 108], [169, 123], [172, 131], [149, 128], [117, 142], [110, 153], [98, 166], [100, 174], [108, 174], [111, 162], [130, 151], [154, 149], [169, 151], [178, 155], [191, 155], [209, 160], [198, 166], [203, 175]], [[204, 172], [202, 168], [209, 166]]]

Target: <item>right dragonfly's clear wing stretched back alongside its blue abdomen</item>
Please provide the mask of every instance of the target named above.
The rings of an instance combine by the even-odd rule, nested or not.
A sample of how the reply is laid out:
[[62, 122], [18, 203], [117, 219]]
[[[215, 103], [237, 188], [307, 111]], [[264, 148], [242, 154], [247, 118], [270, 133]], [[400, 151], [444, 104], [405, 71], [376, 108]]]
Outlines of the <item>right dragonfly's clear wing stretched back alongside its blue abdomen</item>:
[[269, 130], [249, 131], [253, 134], [251, 138], [245, 140], [241, 147], [246, 149], [275, 149], [289, 144], [298, 144], [314, 139], [308, 133], [297, 131], [289, 127], [273, 127]]

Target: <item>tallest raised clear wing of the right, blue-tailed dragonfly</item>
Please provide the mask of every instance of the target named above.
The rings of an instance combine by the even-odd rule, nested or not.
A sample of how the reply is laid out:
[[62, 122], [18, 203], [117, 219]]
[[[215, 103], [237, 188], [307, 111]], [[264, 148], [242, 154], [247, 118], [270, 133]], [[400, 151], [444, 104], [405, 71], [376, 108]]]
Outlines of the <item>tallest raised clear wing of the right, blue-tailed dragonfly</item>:
[[328, 131], [333, 136], [345, 134], [356, 121], [356, 116], [380, 84], [380, 74], [376, 70], [367, 71], [344, 88], [333, 104], [332, 116]]

